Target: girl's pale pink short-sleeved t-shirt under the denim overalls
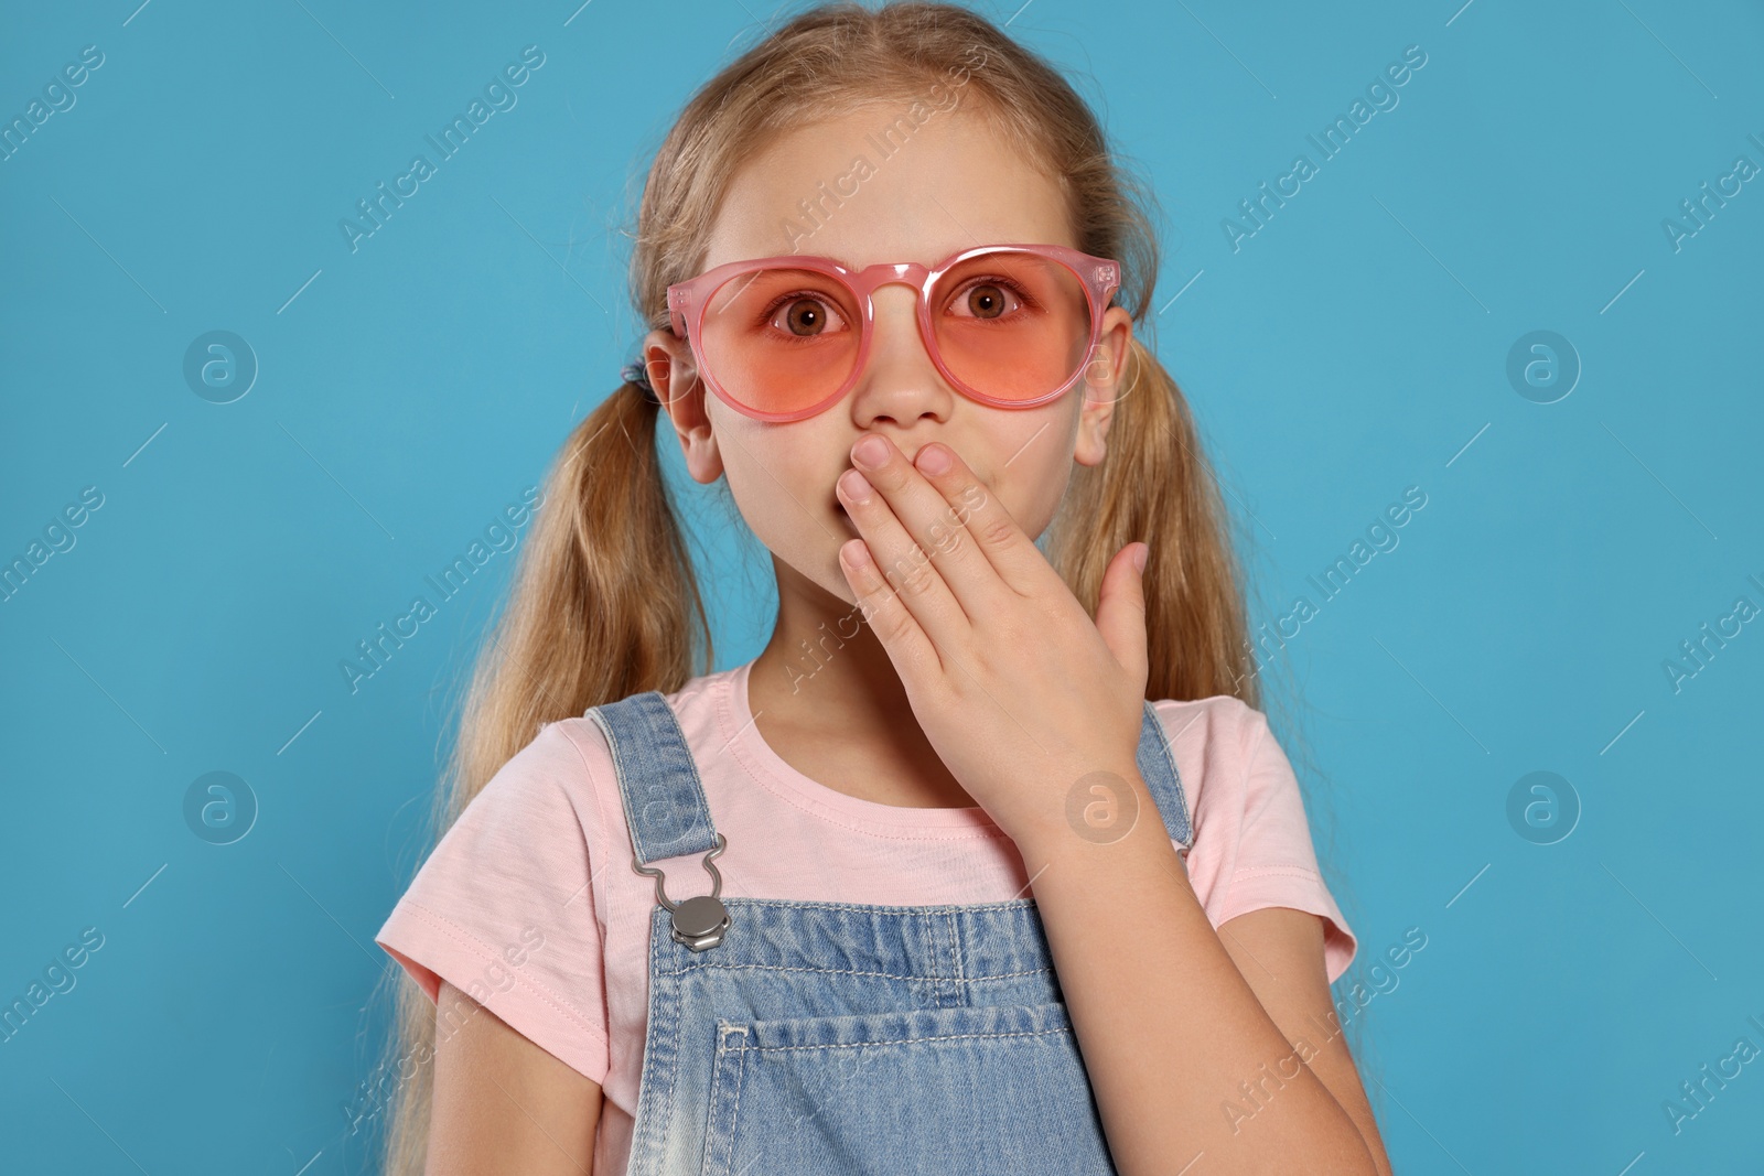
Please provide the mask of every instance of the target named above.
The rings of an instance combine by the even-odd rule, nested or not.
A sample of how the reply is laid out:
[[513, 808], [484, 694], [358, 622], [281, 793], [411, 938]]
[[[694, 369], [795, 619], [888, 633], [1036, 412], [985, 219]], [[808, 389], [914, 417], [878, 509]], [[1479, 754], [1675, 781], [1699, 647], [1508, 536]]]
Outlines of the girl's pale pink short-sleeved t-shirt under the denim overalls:
[[[998, 903], [1023, 859], [979, 808], [859, 800], [785, 763], [748, 709], [751, 661], [669, 695], [699, 763], [723, 896]], [[1263, 906], [1321, 915], [1334, 982], [1355, 936], [1318, 875], [1293, 769], [1259, 711], [1157, 702], [1194, 827], [1189, 878], [1214, 927]], [[624, 1172], [649, 1007], [654, 880], [632, 869], [612, 753], [593, 719], [547, 723], [466, 808], [374, 936], [437, 1000], [441, 979], [602, 1084], [594, 1172]], [[709, 892], [681, 859], [669, 897]]]

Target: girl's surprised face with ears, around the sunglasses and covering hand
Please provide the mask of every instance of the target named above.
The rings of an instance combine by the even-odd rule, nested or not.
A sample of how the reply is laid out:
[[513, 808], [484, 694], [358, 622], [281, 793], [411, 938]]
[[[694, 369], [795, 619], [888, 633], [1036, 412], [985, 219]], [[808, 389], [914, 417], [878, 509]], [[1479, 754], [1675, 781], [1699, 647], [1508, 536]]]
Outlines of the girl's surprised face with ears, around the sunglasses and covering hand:
[[[871, 106], [797, 127], [753, 155], [730, 182], [702, 268], [750, 257], [813, 254], [848, 268], [878, 261], [937, 264], [974, 245], [1078, 247], [1058, 185], [1013, 152], [977, 115], [935, 111], [905, 143], [907, 106]], [[923, 111], [923, 108], [921, 108]], [[882, 146], [893, 153], [880, 155]], [[854, 160], [868, 169], [854, 180]], [[857, 194], [845, 197], [854, 183]], [[824, 192], [840, 190], [840, 203]], [[818, 227], [801, 201], [818, 206]], [[759, 421], [730, 409], [695, 377], [693, 356], [672, 331], [651, 331], [646, 360], [669, 402], [686, 467], [697, 481], [729, 478], [743, 518], [778, 557], [780, 578], [854, 603], [838, 550], [857, 536], [834, 494], [852, 469], [852, 444], [887, 437], [905, 460], [938, 441], [967, 462], [1018, 525], [1039, 536], [1058, 508], [1073, 462], [1102, 460], [1111, 400], [1131, 316], [1111, 307], [1087, 381], [1032, 409], [998, 409], [944, 381], [917, 326], [910, 286], [875, 293], [875, 335], [850, 393], [801, 421]], [[901, 457], [893, 457], [900, 462]], [[921, 540], [923, 543], [923, 540]], [[780, 592], [806, 584], [780, 582]]]

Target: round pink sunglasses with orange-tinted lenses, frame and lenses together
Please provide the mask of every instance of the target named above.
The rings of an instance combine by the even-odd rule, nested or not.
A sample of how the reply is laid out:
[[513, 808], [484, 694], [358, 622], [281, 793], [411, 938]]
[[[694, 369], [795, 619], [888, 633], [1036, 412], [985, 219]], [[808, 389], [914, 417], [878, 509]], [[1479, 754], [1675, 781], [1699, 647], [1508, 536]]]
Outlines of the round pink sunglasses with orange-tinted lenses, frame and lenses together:
[[797, 421], [857, 384], [875, 335], [873, 294], [894, 282], [917, 291], [919, 337], [951, 386], [1027, 409], [1083, 377], [1120, 264], [1065, 245], [979, 245], [935, 266], [863, 270], [783, 254], [669, 286], [669, 323], [718, 398], [755, 420]]

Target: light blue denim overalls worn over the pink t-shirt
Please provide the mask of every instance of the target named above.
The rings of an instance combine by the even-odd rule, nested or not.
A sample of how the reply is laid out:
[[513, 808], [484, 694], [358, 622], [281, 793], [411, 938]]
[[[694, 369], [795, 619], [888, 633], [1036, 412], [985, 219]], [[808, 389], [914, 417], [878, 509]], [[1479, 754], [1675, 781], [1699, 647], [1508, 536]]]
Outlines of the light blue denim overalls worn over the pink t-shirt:
[[[720, 853], [665, 696], [587, 718], [612, 748], [633, 867], [656, 876], [651, 862]], [[1189, 809], [1150, 702], [1138, 769], [1185, 853]], [[688, 942], [656, 876], [630, 1176], [1115, 1172], [1032, 897], [686, 908], [704, 892], [699, 873], [686, 859], [665, 880]]]

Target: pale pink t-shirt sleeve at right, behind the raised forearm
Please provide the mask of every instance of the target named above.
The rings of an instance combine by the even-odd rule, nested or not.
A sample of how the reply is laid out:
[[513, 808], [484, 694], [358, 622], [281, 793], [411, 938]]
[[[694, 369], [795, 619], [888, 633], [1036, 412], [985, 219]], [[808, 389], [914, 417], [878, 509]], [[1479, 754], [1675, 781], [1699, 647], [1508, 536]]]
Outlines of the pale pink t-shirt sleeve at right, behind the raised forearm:
[[1334, 984], [1358, 943], [1318, 869], [1298, 778], [1267, 716], [1231, 696], [1162, 707], [1178, 767], [1200, 767], [1192, 779], [1184, 767], [1182, 785], [1194, 816], [1189, 878], [1208, 920], [1221, 927], [1265, 906], [1319, 915]]

